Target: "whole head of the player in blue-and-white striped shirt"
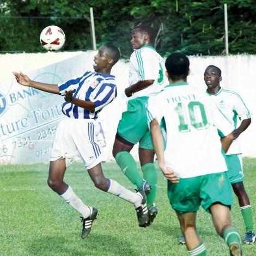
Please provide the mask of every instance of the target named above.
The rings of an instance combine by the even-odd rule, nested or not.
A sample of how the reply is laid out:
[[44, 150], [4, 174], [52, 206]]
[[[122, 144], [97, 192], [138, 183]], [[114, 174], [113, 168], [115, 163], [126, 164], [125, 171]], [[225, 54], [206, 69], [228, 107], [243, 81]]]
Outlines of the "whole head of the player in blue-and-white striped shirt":
[[120, 52], [113, 45], [103, 45], [94, 56], [93, 68], [96, 72], [110, 73], [112, 66], [118, 62]]

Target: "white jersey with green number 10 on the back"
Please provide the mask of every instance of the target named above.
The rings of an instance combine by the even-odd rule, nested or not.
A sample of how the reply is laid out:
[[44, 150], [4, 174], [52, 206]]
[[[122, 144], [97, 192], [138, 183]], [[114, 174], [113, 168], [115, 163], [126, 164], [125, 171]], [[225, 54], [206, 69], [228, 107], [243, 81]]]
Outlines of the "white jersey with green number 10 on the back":
[[233, 127], [204, 92], [185, 82], [169, 84], [149, 97], [149, 123], [154, 118], [159, 124], [165, 120], [166, 164], [180, 178], [227, 171], [220, 135], [228, 135]]

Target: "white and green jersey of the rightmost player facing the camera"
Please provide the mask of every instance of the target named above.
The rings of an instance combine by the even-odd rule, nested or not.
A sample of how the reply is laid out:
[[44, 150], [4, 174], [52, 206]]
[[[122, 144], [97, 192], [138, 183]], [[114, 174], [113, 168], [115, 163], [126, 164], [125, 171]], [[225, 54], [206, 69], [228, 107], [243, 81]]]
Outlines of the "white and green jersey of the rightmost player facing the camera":
[[[208, 92], [206, 92], [209, 94]], [[251, 118], [249, 109], [245, 105], [241, 96], [225, 88], [221, 88], [216, 94], [209, 94], [211, 99], [214, 100], [215, 105], [225, 115], [230, 124], [233, 125], [233, 130], [236, 129], [240, 121]], [[242, 150], [239, 144], [239, 138], [235, 139], [230, 145], [226, 155], [241, 154]]]

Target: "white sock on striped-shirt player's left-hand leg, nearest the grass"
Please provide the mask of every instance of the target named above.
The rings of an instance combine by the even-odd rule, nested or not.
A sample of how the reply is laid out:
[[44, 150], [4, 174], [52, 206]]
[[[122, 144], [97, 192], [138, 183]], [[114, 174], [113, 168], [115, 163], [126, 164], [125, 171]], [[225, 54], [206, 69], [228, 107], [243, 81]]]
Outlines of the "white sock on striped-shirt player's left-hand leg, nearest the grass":
[[66, 203], [70, 204], [72, 208], [80, 212], [84, 218], [87, 218], [91, 214], [92, 207], [85, 205], [82, 200], [74, 193], [72, 187], [69, 186], [68, 189], [60, 195], [60, 197], [62, 197]]

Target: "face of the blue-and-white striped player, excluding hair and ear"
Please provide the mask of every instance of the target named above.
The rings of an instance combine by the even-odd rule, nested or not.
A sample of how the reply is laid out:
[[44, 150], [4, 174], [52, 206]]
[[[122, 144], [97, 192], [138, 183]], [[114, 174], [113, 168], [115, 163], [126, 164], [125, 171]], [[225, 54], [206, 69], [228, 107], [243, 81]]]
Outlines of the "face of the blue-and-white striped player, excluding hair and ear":
[[93, 68], [96, 72], [102, 72], [105, 71], [112, 62], [113, 59], [109, 56], [108, 48], [101, 46], [97, 54], [94, 56]]

